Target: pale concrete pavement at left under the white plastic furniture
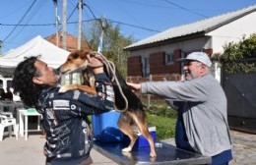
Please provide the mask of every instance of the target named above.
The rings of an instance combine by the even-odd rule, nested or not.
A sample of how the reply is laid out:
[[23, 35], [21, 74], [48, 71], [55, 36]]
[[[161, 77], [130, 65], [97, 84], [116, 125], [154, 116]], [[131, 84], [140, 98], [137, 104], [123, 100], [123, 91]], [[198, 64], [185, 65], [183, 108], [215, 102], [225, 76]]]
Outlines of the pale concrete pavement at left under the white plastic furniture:
[[[29, 134], [29, 139], [19, 137], [4, 137], [0, 142], [0, 164], [1, 165], [45, 165], [45, 156], [42, 147], [45, 142], [40, 134]], [[115, 165], [112, 160], [92, 149], [91, 156], [94, 164]]]

